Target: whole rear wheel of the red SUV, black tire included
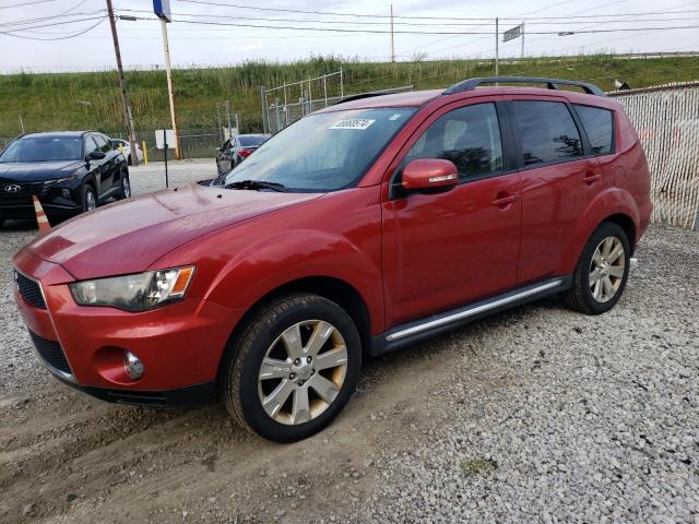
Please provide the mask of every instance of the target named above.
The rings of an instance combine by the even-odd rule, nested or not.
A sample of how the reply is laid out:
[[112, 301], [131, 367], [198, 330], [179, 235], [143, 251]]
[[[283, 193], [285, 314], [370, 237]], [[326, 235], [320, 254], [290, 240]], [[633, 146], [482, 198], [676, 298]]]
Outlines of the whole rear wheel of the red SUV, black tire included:
[[[621, 253], [618, 253], [619, 247], [624, 250]], [[631, 248], [624, 229], [618, 224], [602, 223], [582, 250], [572, 275], [572, 287], [562, 297], [566, 305], [585, 314], [609, 311], [626, 287], [630, 258]]]

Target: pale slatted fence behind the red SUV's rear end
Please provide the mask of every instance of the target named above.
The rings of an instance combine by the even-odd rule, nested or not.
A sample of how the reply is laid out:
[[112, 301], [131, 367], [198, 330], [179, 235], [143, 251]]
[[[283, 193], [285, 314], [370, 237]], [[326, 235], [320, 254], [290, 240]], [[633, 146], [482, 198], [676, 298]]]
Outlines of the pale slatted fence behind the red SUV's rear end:
[[651, 171], [653, 222], [699, 226], [699, 82], [609, 93], [638, 131]]

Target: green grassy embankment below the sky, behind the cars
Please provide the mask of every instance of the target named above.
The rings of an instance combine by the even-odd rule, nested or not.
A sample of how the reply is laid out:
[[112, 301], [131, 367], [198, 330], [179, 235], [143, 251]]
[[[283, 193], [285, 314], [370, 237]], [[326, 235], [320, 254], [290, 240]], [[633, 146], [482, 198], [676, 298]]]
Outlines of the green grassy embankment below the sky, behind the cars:
[[[343, 68], [345, 94], [415, 85], [448, 86], [469, 76], [493, 75], [490, 60], [440, 60], [396, 63], [311, 58], [293, 63], [248, 62], [229, 68], [178, 69], [173, 72], [180, 129], [217, 126], [216, 105], [230, 100], [242, 131], [261, 129], [260, 86], [280, 85]], [[556, 76], [593, 82], [604, 90], [614, 80], [643, 87], [699, 79], [699, 57], [628, 59], [612, 55], [528, 58], [501, 62], [502, 75]], [[169, 127], [164, 71], [127, 71], [133, 118], [139, 131]], [[334, 87], [332, 87], [334, 88]], [[298, 91], [298, 88], [297, 88]], [[298, 93], [293, 95], [298, 97]], [[26, 131], [96, 129], [123, 132], [116, 71], [0, 75], [0, 139]], [[150, 134], [152, 136], [152, 134]], [[2, 144], [0, 144], [1, 146]]]

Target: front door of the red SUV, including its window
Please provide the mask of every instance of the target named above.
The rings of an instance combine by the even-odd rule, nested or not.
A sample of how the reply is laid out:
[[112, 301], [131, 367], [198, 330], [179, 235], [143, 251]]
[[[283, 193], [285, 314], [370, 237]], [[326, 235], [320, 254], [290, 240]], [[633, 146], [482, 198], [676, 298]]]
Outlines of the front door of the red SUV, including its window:
[[[517, 283], [520, 175], [503, 154], [509, 128], [496, 99], [457, 103], [436, 111], [386, 182], [391, 184], [382, 213], [388, 325], [495, 295]], [[401, 171], [415, 158], [453, 162], [460, 183], [447, 192], [405, 193]]]

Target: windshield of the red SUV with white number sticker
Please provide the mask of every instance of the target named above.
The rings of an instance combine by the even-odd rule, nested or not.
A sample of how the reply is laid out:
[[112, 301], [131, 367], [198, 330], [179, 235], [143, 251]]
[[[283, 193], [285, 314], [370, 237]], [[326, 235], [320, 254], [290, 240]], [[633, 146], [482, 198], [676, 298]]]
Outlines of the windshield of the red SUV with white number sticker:
[[415, 110], [354, 109], [301, 118], [238, 164], [225, 184], [254, 180], [298, 192], [351, 187]]

